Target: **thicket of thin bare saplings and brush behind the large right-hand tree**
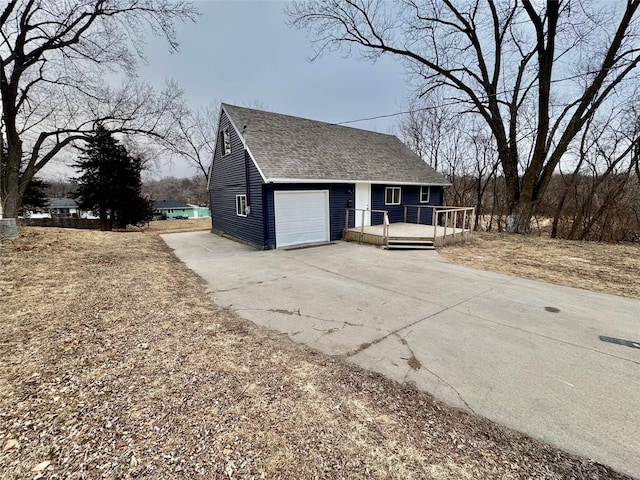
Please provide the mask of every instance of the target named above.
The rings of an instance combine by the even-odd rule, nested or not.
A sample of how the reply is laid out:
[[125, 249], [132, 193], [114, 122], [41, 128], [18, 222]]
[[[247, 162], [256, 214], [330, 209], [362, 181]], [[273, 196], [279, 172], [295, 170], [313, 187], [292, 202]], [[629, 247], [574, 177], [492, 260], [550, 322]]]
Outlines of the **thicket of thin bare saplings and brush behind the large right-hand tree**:
[[[507, 231], [508, 189], [486, 126], [436, 95], [413, 102], [401, 138], [452, 186], [448, 205], [474, 206], [476, 229]], [[640, 240], [640, 117], [623, 104], [594, 116], [537, 203], [531, 227], [552, 238]]]

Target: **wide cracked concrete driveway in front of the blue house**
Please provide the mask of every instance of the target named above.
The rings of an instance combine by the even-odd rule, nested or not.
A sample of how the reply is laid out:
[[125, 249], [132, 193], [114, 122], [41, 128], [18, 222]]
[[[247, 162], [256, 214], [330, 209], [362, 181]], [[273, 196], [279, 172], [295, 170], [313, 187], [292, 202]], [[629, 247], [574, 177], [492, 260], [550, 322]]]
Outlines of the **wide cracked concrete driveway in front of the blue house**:
[[452, 265], [435, 251], [163, 239], [244, 318], [640, 478], [640, 301]]

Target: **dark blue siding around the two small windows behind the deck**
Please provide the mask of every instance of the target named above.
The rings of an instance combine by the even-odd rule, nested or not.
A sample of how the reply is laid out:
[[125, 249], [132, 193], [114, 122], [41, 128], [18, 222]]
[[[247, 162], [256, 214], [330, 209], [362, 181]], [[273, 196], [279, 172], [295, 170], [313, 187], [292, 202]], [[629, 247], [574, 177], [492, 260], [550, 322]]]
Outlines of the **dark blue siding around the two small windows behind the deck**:
[[[398, 187], [398, 185], [372, 185], [371, 186], [371, 208], [373, 210], [387, 210], [389, 212], [389, 222], [397, 223], [404, 221], [404, 206], [405, 205], [423, 205], [423, 206], [438, 206], [442, 205], [442, 187], [431, 187], [431, 194], [429, 203], [420, 203], [420, 187], [414, 185], [400, 185], [401, 197], [400, 205], [385, 205], [384, 195], [386, 187]], [[418, 209], [407, 209], [407, 222], [415, 223], [417, 220]], [[420, 211], [420, 223], [431, 224], [432, 210], [430, 208], [423, 208]], [[371, 223], [373, 225], [379, 225], [382, 223], [382, 214], [373, 213], [371, 215]]]

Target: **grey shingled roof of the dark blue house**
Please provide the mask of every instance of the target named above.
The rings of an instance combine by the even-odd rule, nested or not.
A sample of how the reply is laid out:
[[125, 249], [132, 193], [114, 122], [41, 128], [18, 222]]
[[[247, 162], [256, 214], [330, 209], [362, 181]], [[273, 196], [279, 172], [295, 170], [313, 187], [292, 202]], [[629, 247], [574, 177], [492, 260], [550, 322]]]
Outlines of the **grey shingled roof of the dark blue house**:
[[450, 185], [393, 135], [222, 104], [265, 182]]

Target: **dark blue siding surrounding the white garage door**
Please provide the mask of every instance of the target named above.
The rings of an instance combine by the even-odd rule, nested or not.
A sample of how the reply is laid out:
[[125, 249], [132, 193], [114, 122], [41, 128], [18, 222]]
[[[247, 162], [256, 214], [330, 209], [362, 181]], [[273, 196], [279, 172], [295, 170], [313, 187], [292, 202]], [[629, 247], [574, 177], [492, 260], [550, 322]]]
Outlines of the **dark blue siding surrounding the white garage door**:
[[[355, 201], [355, 185], [353, 184], [269, 184], [264, 186], [264, 205], [267, 213], [267, 236], [265, 238], [265, 246], [275, 248], [276, 244], [276, 217], [273, 206], [274, 191], [291, 191], [291, 190], [329, 190], [329, 230], [331, 240], [340, 240], [342, 238], [342, 230], [344, 229], [344, 221], [347, 206], [353, 206]], [[350, 203], [349, 203], [350, 202]], [[353, 218], [349, 220], [349, 226], [353, 227]]]

